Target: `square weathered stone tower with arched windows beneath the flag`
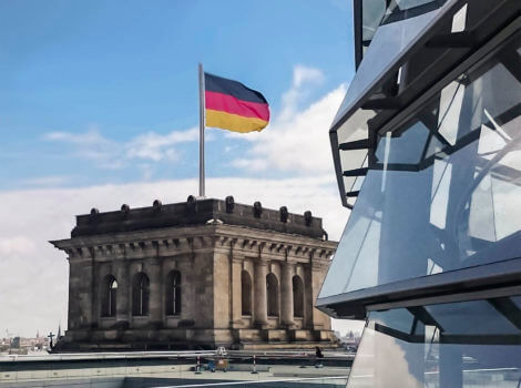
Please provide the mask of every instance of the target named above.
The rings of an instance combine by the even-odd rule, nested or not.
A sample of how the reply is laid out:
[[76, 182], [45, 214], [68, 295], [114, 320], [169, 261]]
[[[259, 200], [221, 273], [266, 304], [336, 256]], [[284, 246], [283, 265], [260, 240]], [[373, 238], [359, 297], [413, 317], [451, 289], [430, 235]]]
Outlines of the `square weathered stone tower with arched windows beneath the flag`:
[[[201, 200], [76, 216], [69, 325], [55, 350], [305, 347], [336, 243], [310, 212]], [[297, 345], [298, 344], [298, 345]]]

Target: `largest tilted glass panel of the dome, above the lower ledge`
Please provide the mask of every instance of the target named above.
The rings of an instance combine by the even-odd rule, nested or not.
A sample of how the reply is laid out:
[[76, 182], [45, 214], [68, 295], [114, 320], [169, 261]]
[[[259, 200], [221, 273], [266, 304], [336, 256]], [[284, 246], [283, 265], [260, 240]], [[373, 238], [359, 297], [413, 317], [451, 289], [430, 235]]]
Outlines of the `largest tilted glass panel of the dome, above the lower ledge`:
[[320, 297], [521, 257], [520, 45], [380, 139]]

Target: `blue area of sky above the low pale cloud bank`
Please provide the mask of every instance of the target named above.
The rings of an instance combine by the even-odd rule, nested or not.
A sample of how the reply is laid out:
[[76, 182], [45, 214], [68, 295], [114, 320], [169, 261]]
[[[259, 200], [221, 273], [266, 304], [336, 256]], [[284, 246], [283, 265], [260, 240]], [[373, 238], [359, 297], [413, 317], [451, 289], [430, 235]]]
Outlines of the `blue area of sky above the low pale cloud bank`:
[[[198, 62], [276, 116], [296, 67], [320, 75], [295, 108], [350, 80], [350, 41], [347, 0], [0, 2], [0, 190], [194, 177], [194, 133], [157, 136], [197, 125]], [[238, 167], [252, 137], [208, 134], [208, 176], [295, 174]]]

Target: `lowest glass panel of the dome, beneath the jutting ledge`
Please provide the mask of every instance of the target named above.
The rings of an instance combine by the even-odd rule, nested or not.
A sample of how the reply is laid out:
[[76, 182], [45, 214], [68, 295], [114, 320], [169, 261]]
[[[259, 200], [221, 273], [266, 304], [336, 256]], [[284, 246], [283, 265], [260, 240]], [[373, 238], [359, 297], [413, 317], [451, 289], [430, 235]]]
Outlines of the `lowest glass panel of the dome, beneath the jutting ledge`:
[[514, 298], [371, 312], [347, 387], [519, 387]]

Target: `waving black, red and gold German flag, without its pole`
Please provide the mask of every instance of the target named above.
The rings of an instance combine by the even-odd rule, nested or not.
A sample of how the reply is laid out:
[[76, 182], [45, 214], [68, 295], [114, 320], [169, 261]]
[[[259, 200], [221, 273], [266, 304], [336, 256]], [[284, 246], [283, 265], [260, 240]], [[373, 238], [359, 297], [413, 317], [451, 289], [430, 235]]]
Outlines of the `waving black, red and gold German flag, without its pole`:
[[246, 133], [268, 124], [269, 105], [259, 92], [208, 73], [204, 73], [204, 89], [206, 126]]

